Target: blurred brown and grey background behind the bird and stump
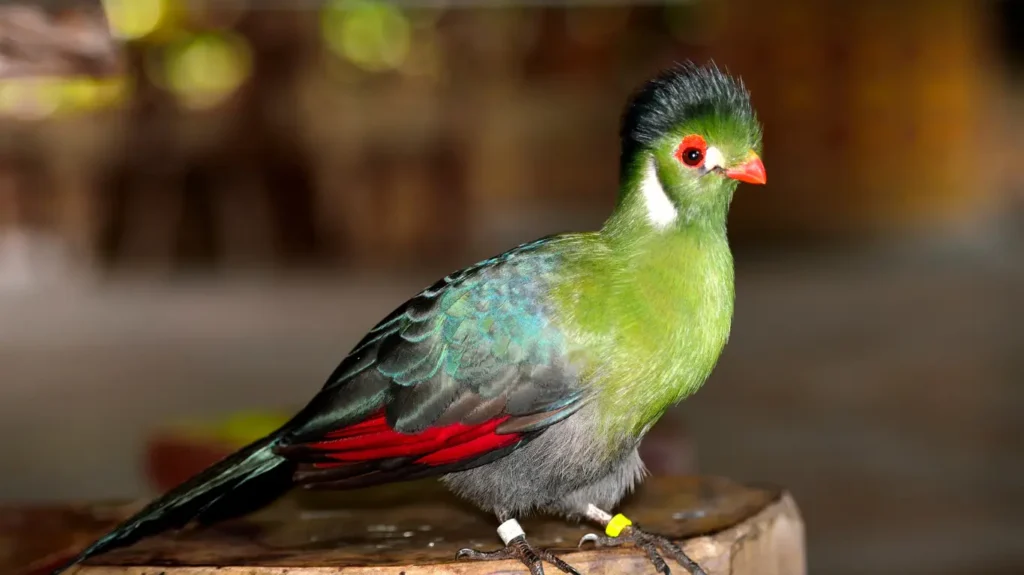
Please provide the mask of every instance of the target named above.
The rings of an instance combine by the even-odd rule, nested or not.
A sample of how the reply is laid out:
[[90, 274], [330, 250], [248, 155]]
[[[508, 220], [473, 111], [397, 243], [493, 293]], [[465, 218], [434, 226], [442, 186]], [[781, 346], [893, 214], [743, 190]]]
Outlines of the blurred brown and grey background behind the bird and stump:
[[0, 3], [0, 500], [152, 495], [436, 277], [600, 225], [685, 58], [771, 177], [650, 467], [787, 487], [812, 573], [1024, 572], [1018, 0]]

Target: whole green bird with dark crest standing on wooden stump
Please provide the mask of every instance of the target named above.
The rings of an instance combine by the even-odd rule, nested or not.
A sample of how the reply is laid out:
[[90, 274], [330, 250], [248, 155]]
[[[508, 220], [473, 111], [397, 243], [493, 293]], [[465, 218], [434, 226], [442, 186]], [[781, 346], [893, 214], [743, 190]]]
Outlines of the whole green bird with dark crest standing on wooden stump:
[[63, 567], [195, 522], [239, 517], [292, 488], [432, 477], [493, 514], [493, 551], [579, 575], [534, 547], [535, 514], [604, 528], [653, 568], [703, 569], [615, 505], [648, 475], [644, 435], [695, 393], [729, 339], [726, 231], [739, 183], [765, 184], [762, 126], [742, 80], [713, 60], [660, 69], [621, 116], [617, 197], [589, 231], [521, 244], [396, 307], [280, 429], [156, 498]]

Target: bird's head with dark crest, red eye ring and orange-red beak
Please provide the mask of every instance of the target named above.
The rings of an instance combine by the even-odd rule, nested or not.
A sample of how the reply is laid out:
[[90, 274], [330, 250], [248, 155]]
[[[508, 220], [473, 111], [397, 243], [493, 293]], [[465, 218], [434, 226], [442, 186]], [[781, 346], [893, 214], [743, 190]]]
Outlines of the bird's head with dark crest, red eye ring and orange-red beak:
[[622, 126], [620, 211], [654, 228], [723, 220], [738, 182], [763, 184], [761, 125], [742, 83], [714, 64], [648, 81]]

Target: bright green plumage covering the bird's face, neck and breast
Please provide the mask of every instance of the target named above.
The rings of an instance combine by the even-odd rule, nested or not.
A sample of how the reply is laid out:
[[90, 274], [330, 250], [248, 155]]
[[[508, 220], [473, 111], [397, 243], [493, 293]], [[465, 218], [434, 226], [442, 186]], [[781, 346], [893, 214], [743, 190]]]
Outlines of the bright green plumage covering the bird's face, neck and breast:
[[[600, 231], [558, 244], [557, 321], [568, 353], [586, 366], [610, 449], [635, 442], [696, 392], [728, 341], [734, 271], [726, 219], [737, 182], [686, 167], [675, 153], [691, 134], [719, 149], [726, 166], [760, 152], [753, 113], [735, 110], [697, 108], [657, 138], [625, 146], [614, 213]], [[671, 223], [652, 220], [645, 184], [671, 202]]]

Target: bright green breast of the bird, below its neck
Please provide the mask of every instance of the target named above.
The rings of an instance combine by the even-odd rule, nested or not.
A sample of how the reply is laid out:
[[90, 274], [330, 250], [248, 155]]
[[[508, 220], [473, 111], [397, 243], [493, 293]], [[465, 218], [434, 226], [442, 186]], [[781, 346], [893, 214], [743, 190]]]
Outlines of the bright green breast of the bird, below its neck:
[[725, 234], [680, 231], [600, 246], [558, 290], [566, 333], [586, 366], [606, 437], [639, 439], [705, 383], [729, 338], [734, 299]]

